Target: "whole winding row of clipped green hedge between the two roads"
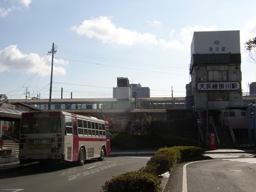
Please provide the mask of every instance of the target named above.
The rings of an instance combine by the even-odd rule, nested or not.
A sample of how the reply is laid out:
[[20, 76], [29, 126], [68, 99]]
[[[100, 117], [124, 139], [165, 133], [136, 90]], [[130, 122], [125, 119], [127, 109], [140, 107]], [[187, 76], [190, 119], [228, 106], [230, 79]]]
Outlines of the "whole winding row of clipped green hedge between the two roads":
[[173, 165], [189, 158], [202, 157], [199, 147], [177, 146], [157, 150], [147, 162], [147, 166], [137, 172], [128, 172], [113, 177], [102, 186], [104, 192], [117, 191], [161, 191], [161, 181], [157, 177], [165, 172], [171, 172]]

